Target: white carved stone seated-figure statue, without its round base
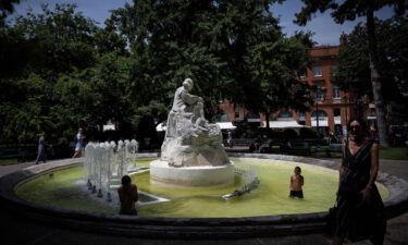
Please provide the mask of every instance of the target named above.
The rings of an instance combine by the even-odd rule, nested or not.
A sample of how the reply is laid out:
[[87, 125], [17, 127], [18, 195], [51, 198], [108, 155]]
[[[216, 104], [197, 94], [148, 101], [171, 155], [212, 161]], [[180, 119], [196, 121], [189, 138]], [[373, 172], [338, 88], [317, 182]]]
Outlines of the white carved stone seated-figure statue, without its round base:
[[161, 147], [161, 160], [172, 167], [230, 163], [222, 146], [221, 130], [206, 120], [203, 99], [190, 94], [193, 85], [193, 79], [186, 78], [175, 91]]

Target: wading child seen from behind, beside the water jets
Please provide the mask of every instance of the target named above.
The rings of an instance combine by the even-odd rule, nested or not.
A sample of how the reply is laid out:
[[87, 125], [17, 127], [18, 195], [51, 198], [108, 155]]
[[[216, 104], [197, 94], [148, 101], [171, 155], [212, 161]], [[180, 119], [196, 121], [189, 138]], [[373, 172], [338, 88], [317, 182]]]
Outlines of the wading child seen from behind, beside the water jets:
[[122, 177], [122, 186], [118, 188], [121, 200], [121, 211], [119, 215], [137, 216], [136, 201], [139, 198], [137, 186], [132, 184], [132, 179], [127, 175]]

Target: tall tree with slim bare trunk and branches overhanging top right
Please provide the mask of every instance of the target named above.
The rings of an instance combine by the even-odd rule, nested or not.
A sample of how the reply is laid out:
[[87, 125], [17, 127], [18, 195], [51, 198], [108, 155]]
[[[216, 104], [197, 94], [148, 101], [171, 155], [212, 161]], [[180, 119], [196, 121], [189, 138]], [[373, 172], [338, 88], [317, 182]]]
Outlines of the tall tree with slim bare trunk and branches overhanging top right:
[[396, 14], [403, 14], [408, 8], [405, 0], [381, 0], [381, 1], [354, 1], [345, 0], [337, 4], [334, 0], [311, 1], [302, 0], [305, 7], [296, 14], [295, 23], [306, 25], [311, 20], [311, 15], [316, 12], [324, 12], [329, 9], [333, 10], [332, 16], [336, 23], [343, 24], [345, 21], [354, 21], [358, 16], [366, 16], [369, 42], [369, 62], [370, 76], [376, 110], [376, 122], [380, 133], [380, 143], [383, 146], [388, 146], [387, 138], [387, 122], [385, 120], [384, 100], [381, 96], [382, 83], [380, 81], [379, 70], [379, 54], [378, 42], [375, 36], [374, 11], [382, 9], [385, 5], [393, 5]]

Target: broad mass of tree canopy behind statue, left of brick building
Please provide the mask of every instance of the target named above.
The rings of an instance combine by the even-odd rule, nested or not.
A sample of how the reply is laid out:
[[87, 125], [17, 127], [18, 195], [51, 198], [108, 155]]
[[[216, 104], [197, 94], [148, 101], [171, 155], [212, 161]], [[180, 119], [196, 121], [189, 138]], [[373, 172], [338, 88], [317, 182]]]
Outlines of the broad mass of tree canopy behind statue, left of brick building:
[[73, 4], [44, 5], [0, 27], [0, 136], [34, 142], [47, 131], [97, 135], [108, 121], [121, 137], [157, 140], [186, 77], [218, 113], [220, 99], [256, 112], [306, 110], [296, 72], [310, 64], [310, 34], [286, 37], [277, 0], [139, 0], [113, 10], [104, 27]]

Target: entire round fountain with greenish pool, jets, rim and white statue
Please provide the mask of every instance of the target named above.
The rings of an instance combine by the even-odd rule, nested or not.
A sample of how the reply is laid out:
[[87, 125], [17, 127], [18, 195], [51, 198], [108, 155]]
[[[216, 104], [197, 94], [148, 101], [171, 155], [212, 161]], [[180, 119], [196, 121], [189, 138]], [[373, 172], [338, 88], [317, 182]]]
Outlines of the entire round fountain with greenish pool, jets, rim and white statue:
[[[337, 164], [250, 154], [230, 156], [233, 162], [221, 144], [220, 128], [203, 117], [202, 98], [189, 94], [191, 87], [187, 78], [175, 93], [160, 159], [138, 159], [135, 166], [140, 156], [134, 139], [89, 143], [83, 159], [33, 166], [0, 177], [2, 207], [40, 222], [116, 235], [236, 238], [323, 232], [335, 199]], [[148, 166], [150, 173], [145, 171]], [[295, 166], [308, 180], [304, 200], [287, 197]], [[140, 194], [147, 193], [140, 195], [136, 218], [116, 215], [118, 195], [111, 189], [124, 174], [132, 175]], [[406, 210], [408, 183], [384, 173], [378, 180], [390, 191], [388, 195], [379, 185], [383, 197], [388, 195], [388, 216]]]

